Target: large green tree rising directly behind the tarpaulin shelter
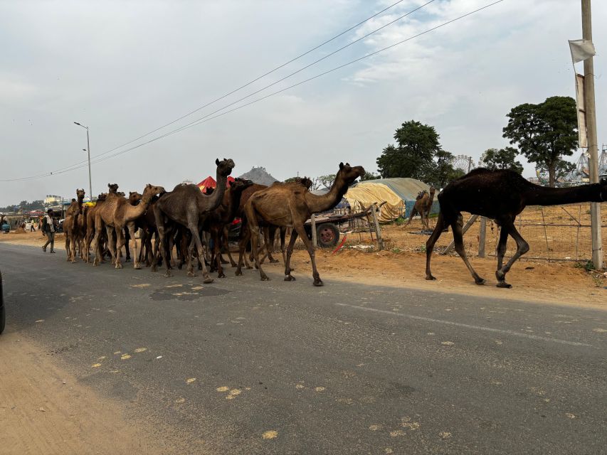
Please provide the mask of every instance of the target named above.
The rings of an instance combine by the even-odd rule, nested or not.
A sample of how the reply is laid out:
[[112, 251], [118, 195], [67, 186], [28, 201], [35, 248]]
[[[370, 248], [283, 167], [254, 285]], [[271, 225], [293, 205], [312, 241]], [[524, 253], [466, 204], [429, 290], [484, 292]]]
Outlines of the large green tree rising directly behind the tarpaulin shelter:
[[410, 120], [394, 133], [396, 145], [389, 144], [377, 159], [384, 178], [411, 177], [443, 187], [459, 176], [452, 165], [453, 155], [440, 146], [434, 127]]

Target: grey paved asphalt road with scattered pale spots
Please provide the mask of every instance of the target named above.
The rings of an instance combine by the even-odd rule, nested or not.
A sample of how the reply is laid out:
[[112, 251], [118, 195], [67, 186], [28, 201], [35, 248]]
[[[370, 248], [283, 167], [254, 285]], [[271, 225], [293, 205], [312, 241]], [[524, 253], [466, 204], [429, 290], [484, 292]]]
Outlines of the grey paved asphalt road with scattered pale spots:
[[191, 453], [607, 453], [606, 311], [0, 257], [9, 329]]

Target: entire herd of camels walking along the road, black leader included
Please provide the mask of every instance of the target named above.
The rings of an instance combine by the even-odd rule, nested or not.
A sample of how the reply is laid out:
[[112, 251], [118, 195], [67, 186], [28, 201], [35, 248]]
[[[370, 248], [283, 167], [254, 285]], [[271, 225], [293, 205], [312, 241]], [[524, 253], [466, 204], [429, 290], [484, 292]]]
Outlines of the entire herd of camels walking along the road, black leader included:
[[[181, 259], [186, 262], [187, 274], [194, 277], [194, 262], [202, 270], [205, 283], [213, 282], [205, 264], [205, 245], [211, 245], [211, 271], [216, 269], [218, 277], [223, 274], [221, 245], [228, 240], [228, 226], [234, 218], [243, 220], [238, 242], [238, 263], [234, 262], [229, 248], [226, 248], [236, 275], [242, 274], [243, 259], [248, 268], [246, 248], [250, 245], [262, 280], [268, 280], [263, 272], [265, 257], [273, 259], [273, 241], [275, 232], [280, 230], [283, 261], [285, 262], [285, 281], [294, 281], [290, 259], [297, 237], [305, 243], [312, 264], [312, 278], [315, 286], [322, 286], [322, 280], [316, 266], [315, 248], [305, 231], [305, 222], [312, 213], [332, 210], [357, 178], [364, 176], [362, 166], [339, 164], [329, 192], [317, 196], [310, 192], [309, 178], [300, 178], [290, 183], [274, 183], [271, 186], [259, 185], [249, 180], [236, 178], [227, 187], [228, 176], [234, 168], [231, 159], [216, 159], [217, 186], [211, 194], [205, 194], [199, 187], [191, 184], [179, 184], [173, 191], [165, 191], [162, 186], [145, 186], [143, 193], [131, 192], [127, 197], [118, 192], [116, 184], [108, 184], [109, 191], [99, 195], [96, 205], [83, 205], [84, 190], [77, 190], [76, 196], [68, 208], [63, 228], [65, 231], [65, 250], [68, 261], [75, 262], [76, 246], [80, 257], [90, 262], [90, 247], [93, 245], [93, 264], [102, 261], [104, 252], [109, 252], [112, 264], [122, 268], [120, 255], [126, 243], [127, 260], [130, 248], [127, 236], [133, 244], [133, 264], [140, 269], [142, 262], [157, 270], [157, 264], [164, 262], [167, 277], [171, 276], [173, 247]], [[432, 188], [433, 189], [433, 188]], [[428, 195], [430, 196], [430, 195]], [[433, 191], [431, 191], [433, 197]], [[422, 199], [422, 198], [420, 198]], [[511, 287], [505, 281], [512, 264], [529, 250], [529, 245], [514, 228], [514, 219], [527, 205], [559, 205], [566, 203], [603, 202], [607, 200], [607, 181], [568, 188], [548, 188], [527, 181], [518, 173], [506, 169], [490, 170], [476, 168], [463, 177], [450, 182], [438, 194], [440, 212], [436, 226], [426, 242], [426, 279], [435, 279], [430, 263], [433, 247], [443, 230], [451, 228], [455, 251], [465, 262], [476, 284], [484, 284], [473, 269], [465, 254], [463, 245], [462, 211], [481, 215], [495, 220], [500, 226], [500, 239], [497, 245], [497, 287]], [[431, 199], [430, 199], [431, 201]], [[427, 205], [428, 201], [420, 200]], [[291, 229], [288, 247], [285, 249], [285, 232]], [[139, 230], [141, 247], [137, 248], [135, 232]], [[510, 235], [517, 244], [517, 251], [507, 264], [502, 265], [506, 252], [507, 237]], [[152, 246], [152, 238], [154, 245]], [[260, 260], [260, 254], [265, 255]]]

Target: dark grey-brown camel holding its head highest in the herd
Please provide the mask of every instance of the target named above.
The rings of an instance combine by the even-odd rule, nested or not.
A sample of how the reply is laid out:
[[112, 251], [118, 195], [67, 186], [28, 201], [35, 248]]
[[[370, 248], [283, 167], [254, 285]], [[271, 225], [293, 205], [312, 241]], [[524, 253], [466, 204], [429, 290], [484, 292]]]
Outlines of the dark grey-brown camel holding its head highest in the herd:
[[[202, 275], [205, 283], [212, 283], [213, 279], [209, 277], [209, 272], [204, 264], [204, 250], [199, 235], [199, 225], [201, 218], [206, 214], [218, 208], [223, 199], [223, 194], [226, 192], [226, 183], [228, 176], [234, 168], [234, 161], [231, 159], [215, 160], [217, 165], [216, 182], [217, 187], [211, 196], [206, 196], [200, 191], [196, 185], [177, 185], [173, 191], [164, 194], [154, 204], [154, 216], [156, 217], [156, 227], [158, 229], [158, 237], [160, 238], [160, 253], [164, 260], [164, 265], [167, 267], [166, 276], [171, 276], [169, 267], [170, 258], [165, 252], [167, 226], [169, 220], [173, 223], [188, 228], [192, 235], [190, 250], [196, 246], [199, 260], [202, 263]], [[192, 266], [192, 255], [188, 255], [188, 277], [194, 277], [194, 267]]]

